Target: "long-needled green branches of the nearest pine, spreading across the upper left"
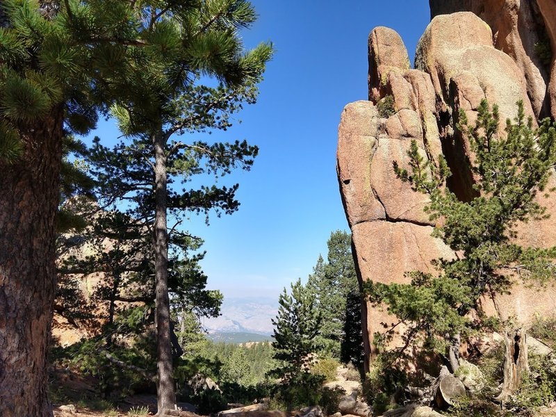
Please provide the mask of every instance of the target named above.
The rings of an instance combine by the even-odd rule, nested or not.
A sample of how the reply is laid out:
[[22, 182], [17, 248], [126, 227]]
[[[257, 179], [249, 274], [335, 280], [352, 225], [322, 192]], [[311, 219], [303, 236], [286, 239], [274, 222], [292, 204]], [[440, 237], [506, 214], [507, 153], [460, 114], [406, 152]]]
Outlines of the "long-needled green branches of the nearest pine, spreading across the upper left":
[[[136, 125], [166, 122], [162, 108], [200, 75], [255, 82], [272, 55], [270, 44], [243, 51], [238, 30], [256, 17], [243, 0], [67, 0], [45, 10], [37, 0], [2, 4], [0, 156], [12, 162], [23, 152], [18, 129], [53, 106], [65, 106], [66, 129], [80, 134], [115, 99], [135, 105]], [[183, 114], [172, 106], [164, 111]]]

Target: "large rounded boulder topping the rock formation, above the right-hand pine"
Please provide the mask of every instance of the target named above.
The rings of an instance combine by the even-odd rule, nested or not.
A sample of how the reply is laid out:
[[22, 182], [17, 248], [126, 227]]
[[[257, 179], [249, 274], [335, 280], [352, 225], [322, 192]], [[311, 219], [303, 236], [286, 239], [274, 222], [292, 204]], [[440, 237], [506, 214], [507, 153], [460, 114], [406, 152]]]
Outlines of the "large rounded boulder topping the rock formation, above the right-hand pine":
[[[491, 28], [473, 13], [434, 17], [419, 40], [415, 62], [419, 70], [431, 74], [436, 97], [454, 117], [459, 108], [475, 111], [486, 98], [498, 104], [502, 120], [513, 118], [516, 101], [527, 98], [518, 66], [493, 46]], [[525, 113], [533, 114], [528, 100]]]

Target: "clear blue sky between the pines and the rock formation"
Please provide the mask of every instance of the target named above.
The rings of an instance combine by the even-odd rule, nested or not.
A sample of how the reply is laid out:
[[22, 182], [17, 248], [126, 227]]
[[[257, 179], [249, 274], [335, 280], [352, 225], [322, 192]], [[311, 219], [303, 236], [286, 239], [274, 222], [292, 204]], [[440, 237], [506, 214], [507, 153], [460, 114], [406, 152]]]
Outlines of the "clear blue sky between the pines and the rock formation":
[[[326, 256], [331, 231], [347, 229], [336, 179], [341, 111], [367, 99], [367, 38], [375, 26], [394, 28], [412, 60], [430, 20], [428, 1], [252, 0], [259, 20], [243, 33], [247, 47], [275, 44], [259, 101], [213, 139], [259, 145], [240, 183], [231, 216], [193, 216], [186, 225], [205, 240], [208, 286], [224, 297], [277, 299], [281, 288], [311, 273]], [[111, 122], [108, 122], [111, 124]], [[111, 133], [112, 132], [112, 133]], [[101, 138], [113, 134], [104, 124]], [[186, 140], [183, 138], [182, 140]]]

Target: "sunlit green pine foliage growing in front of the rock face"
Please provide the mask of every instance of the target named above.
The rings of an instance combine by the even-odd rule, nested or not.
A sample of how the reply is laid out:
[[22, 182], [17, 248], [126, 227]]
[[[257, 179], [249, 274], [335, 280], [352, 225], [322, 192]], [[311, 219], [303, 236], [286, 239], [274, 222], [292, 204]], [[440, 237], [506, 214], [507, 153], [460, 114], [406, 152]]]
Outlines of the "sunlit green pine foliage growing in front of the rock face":
[[[415, 141], [408, 152], [411, 172], [394, 163], [398, 177], [429, 195], [426, 210], [437, 220], [433, 236], [457, 256], [437, 259], [436, 273], [409, 272], [411, 284], [369, 282], [366, 288], [371, 302], [384, 304], [407, 326], [406, 347], [420, 341], [447, 359], [457, 356], [460, 338], [496, 322], [503, 325], [499, 317], [485, 315], [483, 297], [508, 293], [516, 279], [546, 284], [554, 276], [556, 257], [555, 248], [523, 247], [514, 240], [518, 222], [546, 216], [537, 196], [551, 191], [546, 186], [556, 161], [556, 130], [550, 120], [534, 129], [518, 102], [517, 117], [507, 121], [502, 133], [498, 108], [490, 110], [486, 101], [473, 128], [464, 113], [460, 120], [475, 155], [471, 170], [477, 195], [471, 201], [459, 201], [445, 187], [449, 174], [445, 161], [440, 159], [438, 167], [425, 162]], [[472, 311], [475, 314], [469, 314]], [[391, 353], [395, 361], [403, 352]]]

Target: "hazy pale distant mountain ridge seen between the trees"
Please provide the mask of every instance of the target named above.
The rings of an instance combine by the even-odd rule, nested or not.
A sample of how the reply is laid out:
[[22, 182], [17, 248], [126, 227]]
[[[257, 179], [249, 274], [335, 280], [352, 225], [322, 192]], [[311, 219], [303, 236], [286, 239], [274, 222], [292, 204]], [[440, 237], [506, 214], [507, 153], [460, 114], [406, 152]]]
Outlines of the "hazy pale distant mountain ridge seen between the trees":
[[278, 313], [278, 301], [265, 298], [224, 298], [222, 314], [205, 318], [203, 326], [209, 334], [244, 333], [270, 336], [272, 319]]

